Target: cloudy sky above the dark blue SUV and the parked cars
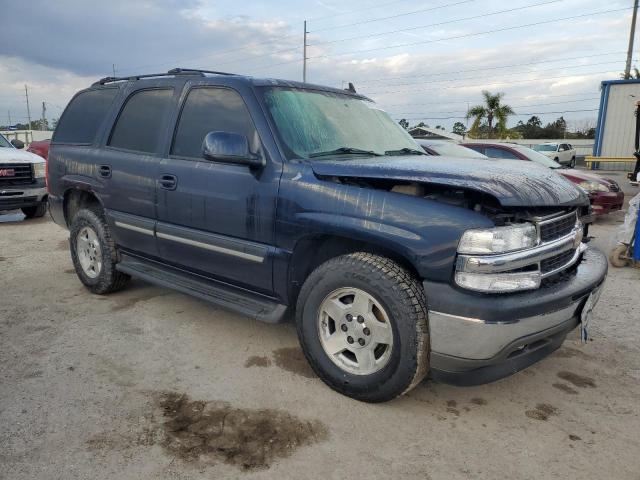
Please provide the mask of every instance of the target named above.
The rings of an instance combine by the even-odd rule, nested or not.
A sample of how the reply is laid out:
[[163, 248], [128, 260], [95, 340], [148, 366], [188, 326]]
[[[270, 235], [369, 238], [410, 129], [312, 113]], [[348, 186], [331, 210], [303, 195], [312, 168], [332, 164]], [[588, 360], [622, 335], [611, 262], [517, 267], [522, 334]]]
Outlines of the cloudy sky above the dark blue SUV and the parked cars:
[[[526, 120], [592, 121], [600, 81], [624, 70], [632, 0], [57, 0], [0, 17], [0, 124], [58, 117], [100, 77], [199, 67], [353, 82], [394, 118], [461, 120], [481, 91]], [[5, 13], [10, 12], [9, 15]], [[634, 52], [634, 63], [638, 55]]]

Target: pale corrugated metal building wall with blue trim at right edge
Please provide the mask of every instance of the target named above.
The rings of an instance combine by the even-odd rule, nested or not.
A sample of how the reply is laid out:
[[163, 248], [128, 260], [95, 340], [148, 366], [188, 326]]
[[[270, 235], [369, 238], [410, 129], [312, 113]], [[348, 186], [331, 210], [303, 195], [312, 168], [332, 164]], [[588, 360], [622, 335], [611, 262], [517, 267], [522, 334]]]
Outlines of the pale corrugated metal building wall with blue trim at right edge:
[[609, 85], [607, 112], [602, 132], [602, 157], [631, 157], [635, 136], [635, 108], [640, 83]]

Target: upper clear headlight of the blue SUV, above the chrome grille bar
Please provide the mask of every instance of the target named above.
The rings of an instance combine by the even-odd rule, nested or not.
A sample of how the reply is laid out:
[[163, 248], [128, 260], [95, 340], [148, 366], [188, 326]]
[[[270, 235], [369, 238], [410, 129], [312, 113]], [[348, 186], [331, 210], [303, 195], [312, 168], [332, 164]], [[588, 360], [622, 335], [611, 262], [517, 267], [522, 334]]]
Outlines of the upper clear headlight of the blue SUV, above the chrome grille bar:
[[458, 253], [505, 253], [531, 248], [538, 241], [536, 227], [530, 223], [467, 230], [458, 244]]

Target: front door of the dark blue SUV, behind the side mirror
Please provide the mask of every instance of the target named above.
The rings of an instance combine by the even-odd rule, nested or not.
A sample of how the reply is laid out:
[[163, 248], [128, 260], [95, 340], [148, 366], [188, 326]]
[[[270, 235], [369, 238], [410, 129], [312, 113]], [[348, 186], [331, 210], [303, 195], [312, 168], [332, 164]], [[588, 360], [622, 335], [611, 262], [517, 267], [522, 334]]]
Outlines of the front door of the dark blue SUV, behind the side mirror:
[[[245, 135], [266, 165], [256, 170], [205, 160], [202, 142], [213, 131]], [[160, 166], [160, 255], [195, 273], [271, 293], [280, 172], [280, 164], [267, 158], [238, 92], [191, 87]]]

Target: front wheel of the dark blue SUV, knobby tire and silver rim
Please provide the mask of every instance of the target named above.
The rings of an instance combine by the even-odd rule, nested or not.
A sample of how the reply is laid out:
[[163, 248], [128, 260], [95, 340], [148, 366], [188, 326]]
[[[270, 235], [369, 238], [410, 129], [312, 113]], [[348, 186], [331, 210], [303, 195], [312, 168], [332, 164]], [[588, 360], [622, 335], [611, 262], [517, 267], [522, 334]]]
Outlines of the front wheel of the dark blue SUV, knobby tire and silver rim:
[[[348, 303], [352, 291], [357, 293]], [[345, 311], [356, 315], [358, 305], [365, 305], [356, 301], [362, 298], [360, 292], [368, 299], [369, 307], [359, 309], [366, 320], [357, 316], [348, 320], [349, 314], [342, 315]], [[343, 293], [347, 295], [340, 297]], [[340, 309], [332, 316], [323, 310], [325, 305], [335, 308], [336, 304]], [[320, 265], [302, 286], [296, 324], [300, 345], [316, 374], [332, 389], [356, 400], [391, 400], [414, 388], [429, 370], [424, 290], [407, 270], [388, 258], [359, 252]], [[338, 343], [332, 344], [336, 334], [340, 335], [335, 337]], [[383, 343], [378, 343], [381, 339]], [[360, 341], [367, 343], [359, 347]], [[345, 350], [330, 355], [325, 344], [332, 350], [334, 345]], [[372, 362], [360, 361], [354, 353], [359, 348], [359, 355], [365, 350], [373, 352], [368, 357]], [[365, 369], [365, 363], [372, 367]]]

